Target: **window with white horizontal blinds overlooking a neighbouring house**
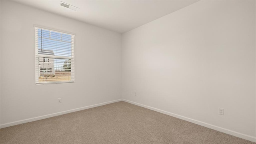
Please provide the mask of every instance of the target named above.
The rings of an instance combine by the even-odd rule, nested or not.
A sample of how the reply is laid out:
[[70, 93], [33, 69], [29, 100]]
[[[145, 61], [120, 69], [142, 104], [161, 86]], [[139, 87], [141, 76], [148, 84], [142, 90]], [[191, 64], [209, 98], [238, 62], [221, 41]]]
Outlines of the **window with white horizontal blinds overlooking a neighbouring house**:
[[36, 27], [36, 84], [74, 82], [74, 35]]

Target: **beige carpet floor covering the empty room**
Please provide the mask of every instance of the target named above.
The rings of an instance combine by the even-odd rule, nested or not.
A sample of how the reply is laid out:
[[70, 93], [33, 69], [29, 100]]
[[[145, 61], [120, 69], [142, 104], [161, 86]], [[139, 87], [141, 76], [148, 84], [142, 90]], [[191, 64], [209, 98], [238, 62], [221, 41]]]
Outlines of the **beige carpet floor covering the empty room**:
[[0, 144], [256, 144], [127, 102], [0, 129]]

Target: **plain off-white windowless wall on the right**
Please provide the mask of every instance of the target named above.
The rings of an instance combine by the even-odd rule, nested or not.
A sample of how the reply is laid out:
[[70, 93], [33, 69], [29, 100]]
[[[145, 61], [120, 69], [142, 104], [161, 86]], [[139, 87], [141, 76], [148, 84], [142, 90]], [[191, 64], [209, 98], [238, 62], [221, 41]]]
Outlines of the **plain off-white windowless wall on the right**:
[[122, 35], [124, 99], [252, 137], [255, 68], [254, 0], [202, 0]]

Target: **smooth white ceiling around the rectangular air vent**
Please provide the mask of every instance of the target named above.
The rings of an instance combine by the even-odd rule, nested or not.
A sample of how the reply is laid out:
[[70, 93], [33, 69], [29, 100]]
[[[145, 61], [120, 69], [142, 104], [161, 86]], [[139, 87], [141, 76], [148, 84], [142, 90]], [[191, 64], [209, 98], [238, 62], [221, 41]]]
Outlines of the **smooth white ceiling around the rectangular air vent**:
[[77, 12], [60, 0], [12, 1], [122, 34], [199, 0], [61, 0], [80, 8]]

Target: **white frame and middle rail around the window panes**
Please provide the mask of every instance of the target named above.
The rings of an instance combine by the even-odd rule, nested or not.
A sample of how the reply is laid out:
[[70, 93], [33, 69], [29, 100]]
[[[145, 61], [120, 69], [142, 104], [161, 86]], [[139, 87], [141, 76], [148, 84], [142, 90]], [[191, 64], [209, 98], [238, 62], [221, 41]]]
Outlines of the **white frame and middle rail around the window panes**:
[[[46, 27], [42, 27], [42, 26], [34, 26], [35, 28], [35, 55], [36, 55], [36, 84], [56, 84], [56, 83], [72, 83], [75, 82], [75, 62], [74, 62], [74, 47], [75, 47], [75, 42], [73, 42], [73, 46], [71, 47], [71, 57], [68, 56], [52, 56], [52, 55], [44, 55], [44, 54], [38, 54], [38, 39], [37, 34], [36, 34], [36, 29], [44, 29], [44, 30], [50, 30], [51, 32], [58, 32], [58, 33], [62, 33], [62, 34], [68, 34], [73, 36], [73, 38], [75, 39], [75, 34], [72, 34], [70, 32], [64, 32], [61, 30], [54, 30], [52, 28], [46, 28]], [[48, 58], [48, 61], [50, 61], [50, 58], [60, 58], [60, 59], [71, 59], [71, 80], [70, 81], [57, 81], [57, 82], [39, 82], [39, 76], [40, 76], [40, 68], [39, 68], [39, 57], [43, 57], [43, 61], [45, 58]], [[37, 69], [38, 68], [38, 69]], [[54, 69], [52, 69], [52, 71], [54, 71]], [[43, 73], [43, 72], [42, 72]], [[47, 73], [47, 68], [46, 68], [46, 73]], [[53, 72], [54, 73], [54, 72]]]

